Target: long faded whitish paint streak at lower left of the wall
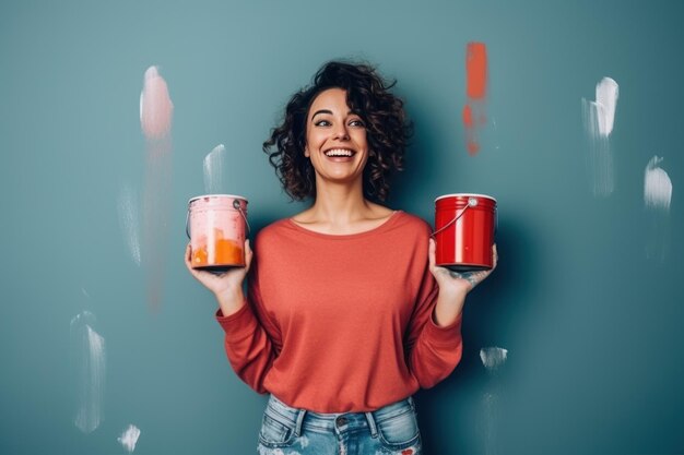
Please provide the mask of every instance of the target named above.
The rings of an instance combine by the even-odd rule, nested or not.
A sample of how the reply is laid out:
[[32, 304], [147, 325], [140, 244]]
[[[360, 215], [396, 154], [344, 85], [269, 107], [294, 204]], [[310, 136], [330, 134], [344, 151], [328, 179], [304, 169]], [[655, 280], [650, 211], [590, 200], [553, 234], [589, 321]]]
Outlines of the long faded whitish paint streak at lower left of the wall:
[[94, 323], [93, 313], [83, 311], [70, 324], [78, 364], [79, 399], [74, 424], [84, 433], [91, 433], [104, 420], [105, 338], [93, 330]]

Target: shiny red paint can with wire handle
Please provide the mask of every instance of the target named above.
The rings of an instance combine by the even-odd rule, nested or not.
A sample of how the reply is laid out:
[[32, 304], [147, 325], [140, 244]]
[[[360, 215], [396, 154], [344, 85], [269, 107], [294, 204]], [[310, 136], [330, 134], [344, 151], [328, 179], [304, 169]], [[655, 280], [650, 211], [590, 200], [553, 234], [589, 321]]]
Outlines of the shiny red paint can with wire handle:
[[456, 272], [494, 266], [496, 200], [484, 194], [446, 194], [435, 200], [436, 264]]

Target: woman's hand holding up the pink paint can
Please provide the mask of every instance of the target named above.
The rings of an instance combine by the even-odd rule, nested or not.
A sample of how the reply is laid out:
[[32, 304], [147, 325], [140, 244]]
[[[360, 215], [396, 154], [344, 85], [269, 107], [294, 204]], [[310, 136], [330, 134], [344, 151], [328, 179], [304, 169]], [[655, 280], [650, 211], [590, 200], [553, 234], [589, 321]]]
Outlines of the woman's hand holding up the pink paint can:
[[[190, 243], [186, 247], [186, 267], [190, 274], [207, 289], [211, 290], [219, 303], [223, 309], [222, 302], [227, 302], [231, 300], [239, 300], [241, 303], [243, 297], [243, 282], [245, 280], [245, 276], [247, 276], [247, 272], [249, 272], [249, 266], [251, 265], [252, 251], [249, 246], [249, 240], [245, 241], [245, 266], [244, 267], [234, 267], [228, 270], [227, 272], [221, 274], [214, 274], [208, 271], [201, 271], [197, 268], [192, 268], [192, 247]], [[225, 311], [224, 311], [225, 313]]]

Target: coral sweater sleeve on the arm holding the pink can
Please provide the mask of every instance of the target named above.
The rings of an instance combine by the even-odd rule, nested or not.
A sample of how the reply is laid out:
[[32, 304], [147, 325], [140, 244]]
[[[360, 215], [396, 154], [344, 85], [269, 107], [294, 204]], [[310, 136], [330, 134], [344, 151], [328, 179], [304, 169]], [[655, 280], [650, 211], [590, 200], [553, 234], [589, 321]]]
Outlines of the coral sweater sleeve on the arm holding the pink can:
[[224, 347], [233, 370], [251, 388], [266, 393], [264, 379], [282, 344], [278, 325], [263, 311], [256, 262], [243, 308], [229, 316], [223, 316], [219, 310], [216, 319], [225, 332]]

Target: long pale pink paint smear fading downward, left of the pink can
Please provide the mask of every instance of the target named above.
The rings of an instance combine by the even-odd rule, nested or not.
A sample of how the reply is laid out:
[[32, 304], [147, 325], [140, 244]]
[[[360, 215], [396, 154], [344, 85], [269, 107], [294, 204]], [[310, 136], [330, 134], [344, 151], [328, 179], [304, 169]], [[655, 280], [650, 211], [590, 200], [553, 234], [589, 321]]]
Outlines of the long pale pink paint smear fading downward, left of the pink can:
[[174, 105], [166, 81], [157, 67], [144, 74], [140, 95], [140, 124], [146, 139], [146, 168], [143, 195], [143, 241], [141, 258], [146, 274], [148, 302], [157, 309], [163, 300], [163, 285], [168, 250], [172, 207], [172, 118]]

